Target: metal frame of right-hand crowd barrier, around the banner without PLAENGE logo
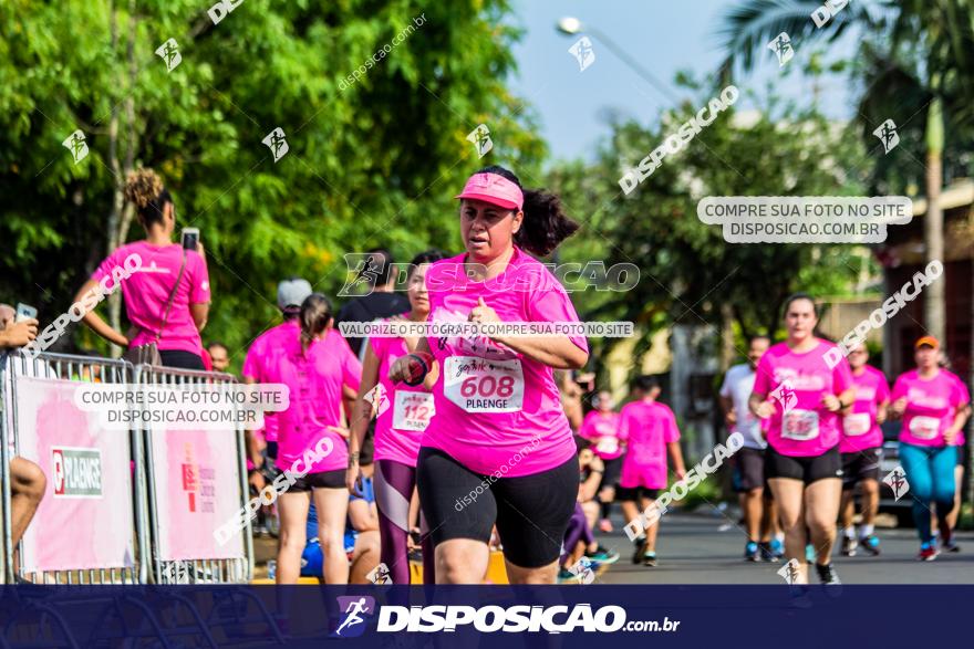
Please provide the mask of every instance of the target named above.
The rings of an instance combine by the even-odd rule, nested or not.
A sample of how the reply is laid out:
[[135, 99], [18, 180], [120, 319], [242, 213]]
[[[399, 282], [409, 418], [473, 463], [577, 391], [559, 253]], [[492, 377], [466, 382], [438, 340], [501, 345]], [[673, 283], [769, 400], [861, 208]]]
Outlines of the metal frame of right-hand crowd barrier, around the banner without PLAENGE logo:
[[[230, 374], [220, 374], [214, 371], [199, 371], [193, 369], [178, 369], [174, 367], [158, 367], [149, 365], [139, 365], [134, 367], [132, 384], [137, 385], [156, 385], [156, 386], [229, 386], [237, 383], [237, 379]], [[247, 465], [245, 463], [246, 442], [244, 438], [244, 428], [237, 426], [235, 428], [237, 471], [240, 477], [240, 498], [239, 506], [247, 504], [250, 488], [247, 482]], [[156, 479], [152, 468], [153, 463], [153, 444], [149, 438], [152, 435], [148, 428], [142, 431], [145, 440], [145, 458], [146, 472], [148, 479], [148, 512], [152, 531], [152, 580], [156, 584], [234, 584], [247, 583], [253, 577], [253, 540], [250, 535], [250, 521], [247, 521], [244, 534], [244, 556], [237, 558], [219, 558], [219, 559], [187, 559], [187, 561], [164, 561], [159, 557], [158, 543], [162, 530], [159, 526]]]

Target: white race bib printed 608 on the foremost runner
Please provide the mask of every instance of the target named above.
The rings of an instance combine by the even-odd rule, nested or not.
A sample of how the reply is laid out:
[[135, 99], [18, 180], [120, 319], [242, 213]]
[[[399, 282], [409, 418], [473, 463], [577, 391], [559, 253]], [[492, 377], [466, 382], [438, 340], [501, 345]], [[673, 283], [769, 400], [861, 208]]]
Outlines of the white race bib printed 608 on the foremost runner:
[[449, 356], [443, 392], [467, 412], [517, 412], [525, 402], [521, 362]]

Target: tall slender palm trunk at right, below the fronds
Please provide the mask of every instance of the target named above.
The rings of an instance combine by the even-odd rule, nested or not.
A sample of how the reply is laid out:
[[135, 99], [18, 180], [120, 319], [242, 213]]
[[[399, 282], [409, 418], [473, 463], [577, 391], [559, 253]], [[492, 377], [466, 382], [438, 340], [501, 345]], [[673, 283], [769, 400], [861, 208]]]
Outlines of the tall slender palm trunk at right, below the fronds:
[[[926, 263], [933, 260], [943, 262], [943, 210], [940, 206], [940, 193], [943, 187], [943, 114], [940, 98], [930, 103], [926, 117], [926, 218], [923, 222], [923, 239], [926, 250]], [[926, 332], [946, 346], [946, 308], [944, 305], [944, 286], [946, 280], [941, 279], [928, 285], [923, 291], [923, 326]]]

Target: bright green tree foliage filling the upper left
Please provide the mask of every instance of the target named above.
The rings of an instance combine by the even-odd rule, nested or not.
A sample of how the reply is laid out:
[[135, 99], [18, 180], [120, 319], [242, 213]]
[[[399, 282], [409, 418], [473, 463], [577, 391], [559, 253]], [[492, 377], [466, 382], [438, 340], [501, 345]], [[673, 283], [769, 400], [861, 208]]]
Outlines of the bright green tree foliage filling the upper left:
[[[177, 229], [201, 230], [206, 337], [236, 349], [276, 321], [282, 276], [333, 294], [344, 253], [456, 250], [467, 175], [537, 175], [543, 144], [505, 85], [507, 0], [246, 0], [217, 24], [209, 4], [0, 0], [0, 299], [65, 311], [113, 244], [142, 235], [120, 188], [151, 166]], [[172, 72], [155, 54], [169, 38]], [[480, 123], [483, 159], [465, 139]], [[276, 127], [290, 147], [277, 163], [261, 144]], [[61, 146], [75, 129], [77, 164]]]

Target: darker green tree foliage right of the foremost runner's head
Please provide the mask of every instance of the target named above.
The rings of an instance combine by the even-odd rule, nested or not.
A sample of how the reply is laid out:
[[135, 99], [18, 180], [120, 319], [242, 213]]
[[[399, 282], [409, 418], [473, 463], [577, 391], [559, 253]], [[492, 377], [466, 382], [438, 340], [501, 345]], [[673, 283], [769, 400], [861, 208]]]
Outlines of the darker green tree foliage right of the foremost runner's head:
[[[639, 285], [626, 293], [586, 292], [577, 304], [590, 317], [643, 327], [639, 348], [662, 326], [721, 324], [732, 317], [745, 336], [774, 333], [785, 297], [804, 290], [848, 291], [861, 259], [849, 245], [732, 244], [721, 228], [697, 218], [707, 196], [859, 196], [853, 163], [863, 153], [847, 128], [774, 97], [759, 113], [734, 108], [705, 127], [629, 196], [619, 178], [634, 168], [700, 106], [717, 94], [703, 90], [657, 124], [616, 124], [598, 164], [562, 165], [551, 184], [569, 206], [591, 206], [579, 241], [563, 259], [604, 255], [631, 262]], [[729, 307], [729, 313], [722, 312]]]

